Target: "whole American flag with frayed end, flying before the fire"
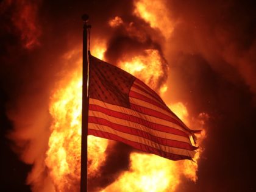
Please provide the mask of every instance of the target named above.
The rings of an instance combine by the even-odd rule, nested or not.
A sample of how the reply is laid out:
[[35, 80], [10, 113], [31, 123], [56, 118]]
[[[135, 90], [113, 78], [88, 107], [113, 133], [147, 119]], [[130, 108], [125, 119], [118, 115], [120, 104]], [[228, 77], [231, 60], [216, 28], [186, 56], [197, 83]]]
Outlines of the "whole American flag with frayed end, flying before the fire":
[[90, 55], [88, 135], [121, 141], [171, 160], [194, 157], [194, 131], [155, 91], [116, 66]]

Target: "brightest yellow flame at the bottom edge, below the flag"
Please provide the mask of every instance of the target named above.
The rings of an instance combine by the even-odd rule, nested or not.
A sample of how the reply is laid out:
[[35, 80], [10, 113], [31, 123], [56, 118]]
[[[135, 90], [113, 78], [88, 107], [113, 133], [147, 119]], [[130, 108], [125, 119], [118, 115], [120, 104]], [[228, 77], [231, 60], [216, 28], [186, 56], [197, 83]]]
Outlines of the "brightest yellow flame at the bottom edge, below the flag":
[[151, 154], [130, 155], [129, 171], [104, 191], [174, 191], [180, 183], [175, 162]]

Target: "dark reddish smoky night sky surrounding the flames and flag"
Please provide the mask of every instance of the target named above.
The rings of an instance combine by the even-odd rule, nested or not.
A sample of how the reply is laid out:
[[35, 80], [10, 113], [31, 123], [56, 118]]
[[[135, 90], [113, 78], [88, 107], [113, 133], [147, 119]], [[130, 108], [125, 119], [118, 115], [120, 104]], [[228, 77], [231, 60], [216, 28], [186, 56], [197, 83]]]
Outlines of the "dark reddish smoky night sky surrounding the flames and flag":
[[[30, 191], [27, 174], [36, 154], [47, 148], [47, 142], [34, 146], [32, 140], [49, 135], [49, 98], [57, 74], [69, 67], [62, 55], [82, 42], [83, 13], [93, 26], [91, 43], [107, 39], [108, 62], [126, 52], [158, 49], [169, 66], [158, 80], [159, 86], [168, 85], [166, 102], [185, 103], [194, 117], [208, 114], [198, 180], [183, 178], [177, 191], [256, 191], [254, 1], [166, 1], [174, 23], [168, 38], [135, 16], [133, 6], [127, 0], [0, 2], [0, 191]], [[108, 21], [115, 16], [133, 22], [146, 40], [141, 43], [122, 27], [110, 29]], [[34, 151], [30, 157], [21, 153], [29, 150]], [[100, 170], [104, 177], [89, 180], [91, 185], [112, 183], [129, 167], [130, 151], [115, 144]]]

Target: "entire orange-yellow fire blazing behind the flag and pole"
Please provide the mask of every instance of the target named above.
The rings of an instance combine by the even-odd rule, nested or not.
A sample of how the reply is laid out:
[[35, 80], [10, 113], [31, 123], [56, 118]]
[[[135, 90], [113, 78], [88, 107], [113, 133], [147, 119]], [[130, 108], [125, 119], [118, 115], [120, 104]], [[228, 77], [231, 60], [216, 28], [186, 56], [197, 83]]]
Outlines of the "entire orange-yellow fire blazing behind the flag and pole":
[[[158, 11], [161, 10], [158, 14]], [[162, 1], [148, 4], [146, 1], [135, 1], [134, 14], [148, 22], [151, 27], [157, 28], [165, 38], [172, 32], [171, 21]], [[161, 18], [161, 20], [159, 19]], [[123, 20], [116, 16], [108, 23], [111, 27], [118, 27]], [[169, 26], [166, 28], [166, 26]], [[130, 30], [127, 26], [127, 30]], [[104, 59], [106, 49], [104, 41], [95, 41], [92, 49], [93, 55]], [[72, 57], [76, 51], [67, 54], [66, 59]], [[77, 59], [77, 68], [60, 81], [51, 98], [50, 113], [53, 118], [49, 149], [46, 157], [46, 166], [54, 185], [55, 191], [79, 191], [80, 182], [80, 137], [81, 137], [81, 101], [82, 101], [82, 69], [81, 60]], [[133, 74], [146, 84], [164, 94], [168, 85], [158, 87], [158, 79], [163, 76], [162, 63], [165, 62], [157, 49], [145, 49], [141, 54], [133, 57], [124, 56], [118, 60], [118, 66]], [[79, 64], [80, 63], [80, 64]], [[188, 126], [203, 129], [205, 114], [197, 119], [191, 119], [188, 110], [182, 102], [171, 104], [169, 107]], [[198, 143], [205, 133], [199, 135]], [[88, 177], [99, 174], [98, 169], [107, 157], [106, 149], [110, 147], [108, 140], [88, 137]], [[115, 182], [102, 191], [175, 191], [181, 177], [185, 176], [196, 182], [197, 160], [201, 150], [196, 154], [194, 162], [183, 160], [173, 162], [157, 155], [130, 154], [130, 168], [124, 171]]]

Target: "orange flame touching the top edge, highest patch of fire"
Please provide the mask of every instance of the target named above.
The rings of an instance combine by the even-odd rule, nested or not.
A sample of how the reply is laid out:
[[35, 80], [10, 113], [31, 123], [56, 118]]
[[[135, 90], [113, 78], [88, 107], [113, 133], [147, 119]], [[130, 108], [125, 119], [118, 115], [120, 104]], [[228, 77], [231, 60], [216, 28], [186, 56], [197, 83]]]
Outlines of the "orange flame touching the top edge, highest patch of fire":
[[146, 22], [152, 28], [162, 32], [165, 38], [169, 38], [174, 30], [174, 23], [170, 20], [166, 1], [135, 0], [134, 14]]

